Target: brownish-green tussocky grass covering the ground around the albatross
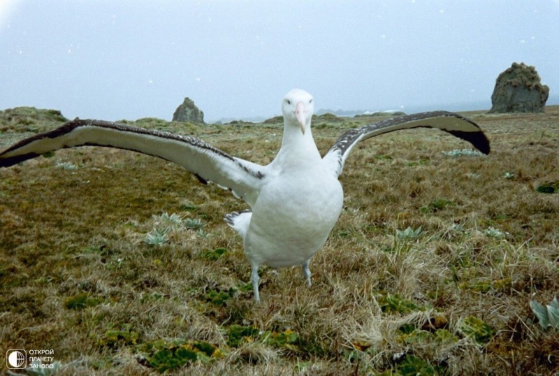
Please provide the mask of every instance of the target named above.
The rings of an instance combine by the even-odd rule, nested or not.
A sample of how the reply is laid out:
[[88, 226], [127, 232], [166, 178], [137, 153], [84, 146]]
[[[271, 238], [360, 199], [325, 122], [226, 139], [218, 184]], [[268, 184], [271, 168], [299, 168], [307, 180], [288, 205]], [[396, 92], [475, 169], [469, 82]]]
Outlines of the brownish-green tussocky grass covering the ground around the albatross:
[[[259, 305], [222, 219], [246, 205], [227, 191], [94, 147], [1, 169], [0, 354], [53, 349], [60, 375], [558, 373], [559, 336], [530, 308], [559, 291], [559, 195], [537, 189], [559, 181], [559, 108], [547, 111], [465, 114], [491, 139], [488, 157], [448, 154], [467, 145], [440, 131], [358, 145], [312, 287], [300, 268], [263, 267]], [[0, 145], [61, 124], [1, 121]], [[370, 121], [321, 119], [314, 137], [324, 152]], [[139, 124], [261, 164], [282, 133]]]

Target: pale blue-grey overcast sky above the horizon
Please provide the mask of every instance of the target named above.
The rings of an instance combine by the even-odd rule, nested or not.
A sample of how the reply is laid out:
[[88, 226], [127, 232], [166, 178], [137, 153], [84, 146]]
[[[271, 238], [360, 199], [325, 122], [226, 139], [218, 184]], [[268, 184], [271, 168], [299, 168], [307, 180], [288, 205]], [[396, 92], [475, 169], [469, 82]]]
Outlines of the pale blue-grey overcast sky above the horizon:
[[512, 62], [559, 103], [558, 20], [559, 0], [0, 0], [0, 109], [270, 117], [293, 87], [317, 109], [488, 109]]

